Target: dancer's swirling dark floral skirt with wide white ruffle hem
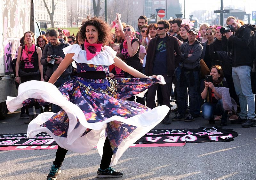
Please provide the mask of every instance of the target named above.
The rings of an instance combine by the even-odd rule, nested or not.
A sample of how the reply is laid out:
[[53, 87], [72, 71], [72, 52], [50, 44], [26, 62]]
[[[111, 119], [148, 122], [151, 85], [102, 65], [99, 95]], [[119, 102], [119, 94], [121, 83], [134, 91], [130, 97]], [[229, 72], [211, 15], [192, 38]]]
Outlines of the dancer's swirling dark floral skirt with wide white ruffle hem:
[[62, 148], [77, 153], [85, 153], [97, 145], [102, 156], [108, 136], [114, 153], [113, 166], [130, 145], [168, 113], [167, 106], [150, 109], [125, 100], [140, 96], [157, 82], [156, 78], [91, 80], [77, 77], [57, 89], [48, 82], [28, 81], [20, 84], [16, 98], [7, 97], [6, 105], [10, 112], [35, 101], [41, 105], [49, 102], [60, 106], [58, 113], [41, 113], [32, 120], [28, 125], [28, 137], [46, 132]]

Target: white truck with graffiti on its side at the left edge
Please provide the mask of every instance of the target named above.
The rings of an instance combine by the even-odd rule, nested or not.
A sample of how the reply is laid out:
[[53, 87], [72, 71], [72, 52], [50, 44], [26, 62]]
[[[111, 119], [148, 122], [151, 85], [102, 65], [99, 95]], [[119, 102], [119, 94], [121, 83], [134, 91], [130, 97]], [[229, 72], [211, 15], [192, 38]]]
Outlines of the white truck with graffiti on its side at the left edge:
[[[11, 62], [20, 45], [20, 38], [26, 31], [41, 30], [34, 17], [33, 0], [2, 0], [0, 3], [0, 120], [8, 113], [6, 96], [16, 97], [18, 90], [13, 83]], [[15, 74], [14, 74], [15, 75]]]

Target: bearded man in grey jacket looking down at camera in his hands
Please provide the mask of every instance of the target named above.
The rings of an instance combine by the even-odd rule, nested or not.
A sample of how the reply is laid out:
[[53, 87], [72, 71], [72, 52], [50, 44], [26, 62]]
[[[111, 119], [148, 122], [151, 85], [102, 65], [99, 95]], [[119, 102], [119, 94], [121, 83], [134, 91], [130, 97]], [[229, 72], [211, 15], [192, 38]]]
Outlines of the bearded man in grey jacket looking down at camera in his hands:
[[[53, 72], [59, 67], [61, 61], [65, 57], [63, 48], [69, 46], [70, 44], [66, 43], [65, 40], [60, 39], [59, 32], [56, 29], [51, 29], [49, 31], [50, 43], [46, 44], [44, 47], [43, 55], [41, 58], [41, 64], [47, 67], [45, 76], [50, 79]], [[70, 74], [72, 73], [72, 67], [69, 65], [67, 69], [61, 74], [61, 76], [54, 83], [56, 87], [61, 86], [65, 82], [69, 81]], [[48, 81], [48, 80], [46, 80]], [[52, 112], [57, 113], [60, 111], [60, 107], [52, 105]]]

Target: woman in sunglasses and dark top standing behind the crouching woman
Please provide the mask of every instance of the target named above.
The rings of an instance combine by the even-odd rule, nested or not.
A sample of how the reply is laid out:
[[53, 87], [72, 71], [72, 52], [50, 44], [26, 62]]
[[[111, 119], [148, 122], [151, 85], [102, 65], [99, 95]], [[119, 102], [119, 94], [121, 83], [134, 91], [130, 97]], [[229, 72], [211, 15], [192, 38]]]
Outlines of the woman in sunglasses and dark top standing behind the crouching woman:
[[204, 59], [205, 64], [209, 69], [211, 69], [212, 65], [212, 59], [210, 57], [210, 44], [214, 41], [214, 35], [215, 35], [215, 28], [206, 28], [205, 35], [207, 38], [207, 41], [202, 43], [203, 46], [203, 52], [200, 59]]

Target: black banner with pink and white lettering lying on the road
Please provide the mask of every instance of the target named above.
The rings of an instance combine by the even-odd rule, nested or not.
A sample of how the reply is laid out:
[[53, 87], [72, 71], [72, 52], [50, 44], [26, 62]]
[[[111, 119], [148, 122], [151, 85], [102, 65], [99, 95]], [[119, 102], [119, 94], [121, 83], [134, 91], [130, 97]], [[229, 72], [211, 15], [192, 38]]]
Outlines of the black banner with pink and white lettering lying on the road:
[[[198, 142], [227, 142], [233, 141], [233, 138], [237, 136], [237, 132], [233, 131], [233, 129], [222, 129], [220, 127], [201, 127], [198, 129], [152, 129], [131, 147], [144, 147], [143, 145], [148, 147], [146, 144], [166, 144], [150, 146], [157, 147], [183, 146], [185, 143]], [[6, 147], [8, 148], [6, 149]], [[57, 144], [55, 140], [47, 133], [37, 134], [30, 139], [27, 138], [26, 133], [0, 134], [0, 150], [56, 148]]]

